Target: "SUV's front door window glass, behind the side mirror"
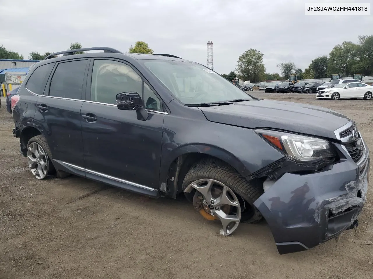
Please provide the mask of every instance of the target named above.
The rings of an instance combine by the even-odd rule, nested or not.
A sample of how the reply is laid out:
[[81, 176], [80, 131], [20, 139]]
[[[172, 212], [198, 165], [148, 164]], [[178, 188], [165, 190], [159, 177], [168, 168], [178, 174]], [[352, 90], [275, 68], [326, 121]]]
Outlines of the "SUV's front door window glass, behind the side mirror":
[[95, 60], [92, 71], [91, 101], [114, 104], [123, 92], [141, 96], [141, 77], [128, 65], [112, 60]]

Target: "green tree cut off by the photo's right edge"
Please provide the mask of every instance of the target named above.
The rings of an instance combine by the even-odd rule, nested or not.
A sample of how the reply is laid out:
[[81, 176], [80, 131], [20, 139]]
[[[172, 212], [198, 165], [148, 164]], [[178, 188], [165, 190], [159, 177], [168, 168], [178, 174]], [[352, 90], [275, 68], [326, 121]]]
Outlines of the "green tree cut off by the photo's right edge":
[[373, 75], [373, 35], [359, 36], [357, 58], [352, 70], [366, 76]]

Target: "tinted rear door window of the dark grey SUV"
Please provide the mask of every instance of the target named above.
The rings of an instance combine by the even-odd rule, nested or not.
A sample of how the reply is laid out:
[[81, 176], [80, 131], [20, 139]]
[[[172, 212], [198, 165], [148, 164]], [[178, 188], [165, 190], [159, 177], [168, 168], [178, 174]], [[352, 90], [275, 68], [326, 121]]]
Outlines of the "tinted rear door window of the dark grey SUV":
[[50, 83], [49, 96], [82, 99], [87, 61], [78, 60], [58, 64]]

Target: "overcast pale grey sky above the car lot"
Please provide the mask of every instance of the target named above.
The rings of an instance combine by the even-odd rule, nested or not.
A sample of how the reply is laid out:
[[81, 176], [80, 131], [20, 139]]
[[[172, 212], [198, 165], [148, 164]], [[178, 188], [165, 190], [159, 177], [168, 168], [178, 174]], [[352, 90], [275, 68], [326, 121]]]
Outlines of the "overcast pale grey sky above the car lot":
[[[254, 48], [266, 72], [293, 61], [310, 61], [343, 41], [373, 34], [373, 16], [305, 16], [304, 3], [372, 0], [0, 0], [0, 44], [22, 54], [57, 52], [71, 42], [126, 52], [145, 41], [154, 53], [169, 53], [207, 65], [213, 41], [213, 67], [235, 70], [240, 54]], [[372, 5], [373, 6], [373, 5]]]

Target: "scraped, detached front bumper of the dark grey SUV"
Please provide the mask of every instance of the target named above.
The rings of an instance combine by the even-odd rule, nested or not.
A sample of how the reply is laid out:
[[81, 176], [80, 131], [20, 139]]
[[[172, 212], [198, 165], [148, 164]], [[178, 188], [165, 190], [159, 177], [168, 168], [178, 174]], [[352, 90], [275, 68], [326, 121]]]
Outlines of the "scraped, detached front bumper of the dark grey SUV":
[[308, 250], [357, 226], [366, 201], [369, 149], [355, 163], [342, 145], [335, 146], [345, 158], [316, 173], [285, 173], [254, 203], [280, 254]]

